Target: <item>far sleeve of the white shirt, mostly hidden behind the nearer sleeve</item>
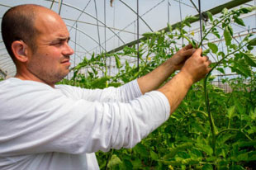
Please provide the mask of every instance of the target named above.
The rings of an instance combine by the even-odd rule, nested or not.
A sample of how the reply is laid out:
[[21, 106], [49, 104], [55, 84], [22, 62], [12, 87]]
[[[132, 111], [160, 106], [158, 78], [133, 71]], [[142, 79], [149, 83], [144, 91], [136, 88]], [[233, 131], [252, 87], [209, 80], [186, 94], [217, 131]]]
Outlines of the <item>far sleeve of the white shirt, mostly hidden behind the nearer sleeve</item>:
[[121, 87], [107, 87], [105, 89], [92, 90], [67, 85], [59, 85], [57, 88], [67, 96], [73, 96], [91, 102], [129, 102], [142, 95], [136, 79]]

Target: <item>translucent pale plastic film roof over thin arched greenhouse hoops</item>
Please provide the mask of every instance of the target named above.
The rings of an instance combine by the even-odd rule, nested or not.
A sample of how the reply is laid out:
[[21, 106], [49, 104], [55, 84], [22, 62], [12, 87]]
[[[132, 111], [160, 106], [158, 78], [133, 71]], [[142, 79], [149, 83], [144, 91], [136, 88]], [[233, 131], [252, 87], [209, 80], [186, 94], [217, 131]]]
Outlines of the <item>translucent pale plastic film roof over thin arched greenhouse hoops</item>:
[[[201, 0], [201, 11], [220, 6], [228, 0]], [[69, 45], [75, 53], [70, 57], [72, 66], [96, 54], [113, 50], [139, 38], [143, 33], [159, 31], [181, 21], [188, 15], [197, 15], [197, 0], [2, 0], [0, 2], [0, 21], [10, 7], [33, 3], [51, 8], [59, 13], [70, 33]], [[244, 6], [255, 6], [256, 0]], [[139, 5], [137, 8], [137, 5]], [[112, 7], [111, 7], [112, 6]], [[139, 26], [137, 26], [139, 12]], [[256, 28], [256, 17], [244, 17], [246, 28], [236, 26], [235, 31]], [[198, 31], [199, 22], [192, 24], [191, 30]], [[139, 32], [138, 32], [139, 31]], [[199, 36], [198, 36], [199, 38]], [[0, 36], [0, 78], [12, 77], [15, 65], [7, 54]]]

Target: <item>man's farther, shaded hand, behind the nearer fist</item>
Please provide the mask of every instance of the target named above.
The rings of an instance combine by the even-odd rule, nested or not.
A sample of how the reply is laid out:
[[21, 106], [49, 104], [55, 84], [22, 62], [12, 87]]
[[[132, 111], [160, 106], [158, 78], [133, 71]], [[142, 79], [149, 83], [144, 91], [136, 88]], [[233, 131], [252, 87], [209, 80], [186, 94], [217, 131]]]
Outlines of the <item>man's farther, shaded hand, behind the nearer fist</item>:
[[174, 70], [180, 70], [183, 68], [185, 61], [190, 58], [195, 51], [196, 49], [192, 48], [192, 45], [187, 45], [183, 47], [183, 49], [178, 50], [168, 62], [173, 65]]

